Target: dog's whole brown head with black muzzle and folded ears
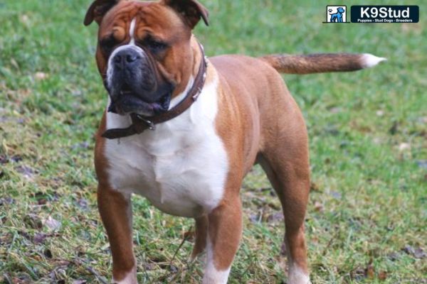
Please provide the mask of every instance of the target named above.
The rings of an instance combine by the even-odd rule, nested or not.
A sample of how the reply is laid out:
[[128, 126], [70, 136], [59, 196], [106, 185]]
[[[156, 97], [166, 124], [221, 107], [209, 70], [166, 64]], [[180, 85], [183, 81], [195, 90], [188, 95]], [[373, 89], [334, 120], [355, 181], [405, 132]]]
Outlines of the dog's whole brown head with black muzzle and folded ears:
[[208, 12], [193, 0], [97, 0], [86, 15], [100, 25], [97, 67], [109, 111], [154, 116], [169, 109], [194, 65], [191, 30]]

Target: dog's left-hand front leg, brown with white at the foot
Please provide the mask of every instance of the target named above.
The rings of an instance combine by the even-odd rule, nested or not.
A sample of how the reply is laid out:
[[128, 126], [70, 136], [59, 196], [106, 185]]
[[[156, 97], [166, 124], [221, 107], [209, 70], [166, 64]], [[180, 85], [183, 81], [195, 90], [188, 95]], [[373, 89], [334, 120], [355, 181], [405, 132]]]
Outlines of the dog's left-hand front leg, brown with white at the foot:
[[98, 209], [107, 230], [112, 253], [112, 282], [137, 284], [137, 265], [132, 249], [132, 204], [130, 195], [98, 185]]

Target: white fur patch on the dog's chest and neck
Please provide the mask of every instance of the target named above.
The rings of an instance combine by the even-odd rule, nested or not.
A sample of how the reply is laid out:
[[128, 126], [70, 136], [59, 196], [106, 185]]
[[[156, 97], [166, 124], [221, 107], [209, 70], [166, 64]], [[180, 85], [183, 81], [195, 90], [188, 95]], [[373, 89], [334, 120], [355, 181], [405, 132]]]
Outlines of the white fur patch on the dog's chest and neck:
[[[110, 185], [137, 193], [162, 211], [197, 217], [223, 197], [228, 158], [216, 133], [218, 78], [207, 84], [184, 114], [158, 124], [155, 131], [107, 140]], [[125, 128], [129, 116], [107, 114], [107, 129]]]

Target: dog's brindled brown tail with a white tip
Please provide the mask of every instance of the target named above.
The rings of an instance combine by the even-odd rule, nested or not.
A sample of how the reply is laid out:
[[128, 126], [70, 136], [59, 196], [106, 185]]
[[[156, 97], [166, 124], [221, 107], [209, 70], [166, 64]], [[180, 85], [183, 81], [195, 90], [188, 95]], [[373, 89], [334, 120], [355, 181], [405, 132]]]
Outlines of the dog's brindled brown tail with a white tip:
[[357, 71], [377, 65], [386, 58], [369, 53], [319, 53], [310, 55], [266, 55], [260, 58], [275, 70], [288, 74]]

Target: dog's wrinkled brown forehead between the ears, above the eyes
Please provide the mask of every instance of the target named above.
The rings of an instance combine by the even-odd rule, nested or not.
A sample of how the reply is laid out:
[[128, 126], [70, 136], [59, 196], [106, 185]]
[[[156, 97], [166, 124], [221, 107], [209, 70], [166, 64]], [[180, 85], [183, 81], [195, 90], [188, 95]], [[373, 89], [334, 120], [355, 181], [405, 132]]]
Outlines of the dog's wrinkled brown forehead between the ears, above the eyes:
[[100, 38], [114, 34], [124, 40], [129, 36], [130, 24], [135, 20], [135, 36], [154, 33], [159, 37], [180, 36], [188, 31], [178, 14], [157, 1], [121, 1], [102, 20]]

